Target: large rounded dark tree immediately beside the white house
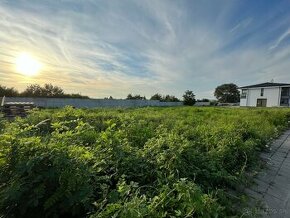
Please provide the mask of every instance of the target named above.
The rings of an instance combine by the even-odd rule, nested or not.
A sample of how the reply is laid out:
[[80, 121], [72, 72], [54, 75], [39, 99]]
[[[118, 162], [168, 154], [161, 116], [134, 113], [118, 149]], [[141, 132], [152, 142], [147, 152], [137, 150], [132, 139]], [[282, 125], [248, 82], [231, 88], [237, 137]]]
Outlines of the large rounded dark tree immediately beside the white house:
[[233, 83], [216, 87], [214, 96], [220, 103], [237, 103], [240, 101], [240, 91], [238, 86]]

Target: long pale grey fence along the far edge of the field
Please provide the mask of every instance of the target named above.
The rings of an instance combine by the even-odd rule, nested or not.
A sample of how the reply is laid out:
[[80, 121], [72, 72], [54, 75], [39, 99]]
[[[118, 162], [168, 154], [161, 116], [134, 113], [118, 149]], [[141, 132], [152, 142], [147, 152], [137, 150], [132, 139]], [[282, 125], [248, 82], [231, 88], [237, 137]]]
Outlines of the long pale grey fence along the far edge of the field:
[[155, 100], [122, 100], [122, 99], [79, 99], [79, 98], [26, 98], [6, 97], [5, 102], [33, 102], [37, 107], [59, 108], [67, 105], [76, 108], [96, 107], [146, 107], [146, 106], [180, 106], [182, 102], [160, 102]]

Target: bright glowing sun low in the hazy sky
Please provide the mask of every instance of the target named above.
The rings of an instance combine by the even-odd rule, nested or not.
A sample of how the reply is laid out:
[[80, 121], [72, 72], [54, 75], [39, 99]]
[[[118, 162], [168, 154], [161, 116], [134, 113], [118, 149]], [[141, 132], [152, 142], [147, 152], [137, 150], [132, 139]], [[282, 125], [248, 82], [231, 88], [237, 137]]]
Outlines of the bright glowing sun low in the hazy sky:
[[28, 53], [22, 53], [16, 58], [16, 70], [25, 76], [35, 76], [41, 67], [42, 64]]

